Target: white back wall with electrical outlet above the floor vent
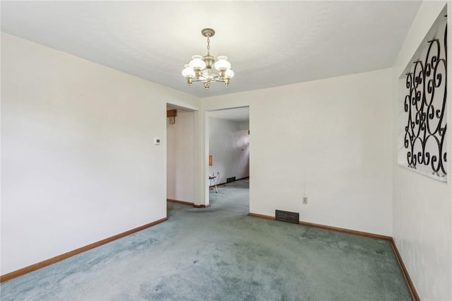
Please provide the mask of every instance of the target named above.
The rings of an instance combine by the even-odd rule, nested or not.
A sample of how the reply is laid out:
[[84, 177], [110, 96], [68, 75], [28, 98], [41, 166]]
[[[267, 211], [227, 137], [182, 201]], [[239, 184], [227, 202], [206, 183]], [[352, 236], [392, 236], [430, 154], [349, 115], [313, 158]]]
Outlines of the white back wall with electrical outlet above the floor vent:
[[392, 235], [391, 83], [385, 69], [203, 99], [250, 107], [250, 212]]

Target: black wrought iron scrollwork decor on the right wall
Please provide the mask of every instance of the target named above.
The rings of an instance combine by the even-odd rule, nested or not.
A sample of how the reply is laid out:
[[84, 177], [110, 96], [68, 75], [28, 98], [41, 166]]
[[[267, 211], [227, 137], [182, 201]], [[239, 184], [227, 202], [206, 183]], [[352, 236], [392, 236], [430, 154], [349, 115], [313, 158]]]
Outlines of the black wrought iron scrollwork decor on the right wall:
[[406, 74], [404, 110], [408, 114], [403, 139], [408, 167], [445, 178], [447, 25], [444, 37], [429, 40], [423, 60]]

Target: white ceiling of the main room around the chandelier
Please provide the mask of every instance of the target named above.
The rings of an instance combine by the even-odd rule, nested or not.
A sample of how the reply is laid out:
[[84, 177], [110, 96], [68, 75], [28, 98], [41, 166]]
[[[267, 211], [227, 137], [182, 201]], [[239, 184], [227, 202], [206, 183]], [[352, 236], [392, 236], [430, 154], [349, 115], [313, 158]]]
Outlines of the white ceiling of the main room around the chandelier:
[[[1, 30], [208, 97], [388, 68], [419, 1], [1, 1]], [[216, 31], [229, 87], [186, 85], [201, 29]]]

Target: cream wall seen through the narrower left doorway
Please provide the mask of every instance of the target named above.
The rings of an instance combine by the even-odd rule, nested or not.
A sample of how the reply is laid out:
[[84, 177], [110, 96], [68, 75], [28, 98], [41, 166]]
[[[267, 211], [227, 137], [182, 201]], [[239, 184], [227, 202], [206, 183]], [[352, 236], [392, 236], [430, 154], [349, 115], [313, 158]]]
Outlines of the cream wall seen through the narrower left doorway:
[[167, 199], [194, 203], [194, 158], [194, 112], [179, 109], [167, 122]]

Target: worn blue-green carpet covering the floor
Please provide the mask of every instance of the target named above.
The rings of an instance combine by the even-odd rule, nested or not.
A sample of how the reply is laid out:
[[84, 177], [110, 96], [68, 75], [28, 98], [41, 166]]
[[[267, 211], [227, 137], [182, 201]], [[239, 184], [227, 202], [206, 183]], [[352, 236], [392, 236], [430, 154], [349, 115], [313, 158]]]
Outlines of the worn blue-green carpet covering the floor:
[[248, 182], [1, 284], [1, 300], [411, 300], [387, 241], [247, 216]]

